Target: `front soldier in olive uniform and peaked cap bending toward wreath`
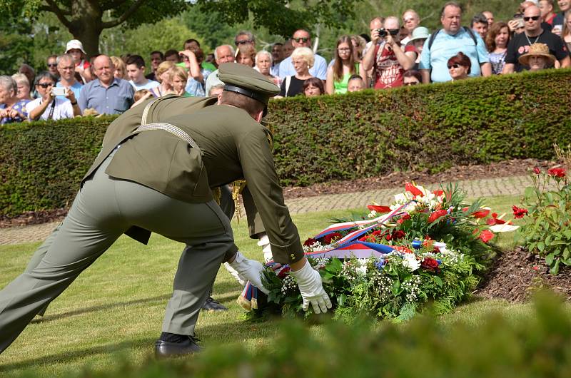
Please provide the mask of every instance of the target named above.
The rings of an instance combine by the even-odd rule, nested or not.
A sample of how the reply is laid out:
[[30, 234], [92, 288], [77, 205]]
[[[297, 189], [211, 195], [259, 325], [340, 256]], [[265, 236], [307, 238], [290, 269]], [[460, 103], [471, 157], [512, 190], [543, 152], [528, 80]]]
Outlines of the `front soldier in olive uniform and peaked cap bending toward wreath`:
[[271, 133], [259, 123], [278, 88], [236, 63], [221, 65], [220, 76], [226, 83], [220, 106], [149, 123], [133, 133], [113, 135], [109, 129], [106, 139], [112, 142], [104, 144], [82, 180], [46, 255], [0, 291], [0, 352], [122, 233], [145, 240], [151, 232], [189, 247], [178, 263], [156, 353], [198, 350], [194, 326], [225, 255], [233, 255], [231, 265], [265, 290], [263, 267], [237, 252], [228, 218], [211, 194], [211, 188], [238, 179], [248, 183], [274, 260], [290, 264], [304, 309], [331, 307], [283, 203]]

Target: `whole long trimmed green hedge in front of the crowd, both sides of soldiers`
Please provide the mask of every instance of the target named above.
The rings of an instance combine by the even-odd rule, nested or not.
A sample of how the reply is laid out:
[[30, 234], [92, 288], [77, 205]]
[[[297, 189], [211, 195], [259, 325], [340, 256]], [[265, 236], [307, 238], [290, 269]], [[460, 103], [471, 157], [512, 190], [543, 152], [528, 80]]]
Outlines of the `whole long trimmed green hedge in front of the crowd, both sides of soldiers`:
[[[283, 185], [552, 158], [571, 143], [571, 69], [271, 101]], [[61, 208], [113, 117], [0, 128], [0, 215]]]

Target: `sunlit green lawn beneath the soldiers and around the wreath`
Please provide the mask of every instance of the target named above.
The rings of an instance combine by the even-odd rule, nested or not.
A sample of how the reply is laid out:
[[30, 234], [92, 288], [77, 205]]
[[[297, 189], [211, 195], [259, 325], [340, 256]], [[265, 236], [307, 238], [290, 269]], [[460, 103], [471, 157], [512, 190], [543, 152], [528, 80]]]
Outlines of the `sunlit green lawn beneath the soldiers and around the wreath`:
[[[516, 198], [487, 200], [498, 213], [509, 212]], [[333, 217], [348, 211], [310, 213], [294, 217], [302, 240], [318, 233]], [[509, 214], [508, 214], [509, 215]], [[261, 260], [256, 241], [248, 238], [246, 222], [233, 224], [236, 244], [248, 257]], [[500, 245], [513, 245], [513, 234], [502, 235]], [[19, 275], [39, 243], [0, 247], [0, 287]], [[19, 339], [0, 355], [0, 375], [22, 373], [52, 377], [81, 372], [84, 367], [105, 371], [120, 360], [143, 364], [153, 356], [153, 342], [161, 332], [166, 302], [182, 245], [153, 235], [148, 246], [121, 237], [63, 295], [54, 300], [44, 318], [36, 318]], [[278, 320], [248, 322], [236, 304], [241, 287], [221, 269], [214, 297], [228, 312], [203, 313], [197, 336], [203, 344], [241, 343], [249, 349], [268, 344], [280, 328]], [[440, 321], [477, 323], [482, 315], [500, 311], [514, 319], [530, 312], [530, 305], [474, 300]], [[312, 326], [320, 332], [322, 326]]]

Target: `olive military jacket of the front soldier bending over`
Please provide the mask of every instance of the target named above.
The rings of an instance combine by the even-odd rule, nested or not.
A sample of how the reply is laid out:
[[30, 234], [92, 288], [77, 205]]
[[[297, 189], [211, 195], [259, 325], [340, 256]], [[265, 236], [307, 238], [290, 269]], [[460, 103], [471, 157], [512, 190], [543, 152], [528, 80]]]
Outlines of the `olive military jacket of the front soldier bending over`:
[[[152, 118], [148, 120], [151, 122]], [[267, 128], [246, 111], [226, 105], [208, 106], [191, 114], [163, 118], [161, 122], [181, 128], [200, 149], [191, 148], [166, 131], [123, 134], [115, 137], [121, 148], [106, 173], [189, 203], [211, 200], [210, 188], [245, 179], [274, 259], [290, 263], [303, 257], [298, 230], [283, 201]], [[86, 178], [113, 148], [103, 148]]]

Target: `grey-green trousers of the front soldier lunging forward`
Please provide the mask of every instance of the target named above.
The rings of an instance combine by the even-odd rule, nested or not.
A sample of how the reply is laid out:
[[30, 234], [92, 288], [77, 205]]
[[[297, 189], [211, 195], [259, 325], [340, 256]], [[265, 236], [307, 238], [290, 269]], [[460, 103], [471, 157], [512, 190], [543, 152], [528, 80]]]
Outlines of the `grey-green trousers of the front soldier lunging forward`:
[[[230, 223], [214, 202], [185, 203], [104, 173], [113, 155], [87, 180], [69, 214], [26, 271], [0, 291], [0, 353], [34, 316], [137, 225], [185, 243], [168, 301], [163, 332], [194, 334], [211, 282], [233, 246]], [[41, 258], [40, 258], [41, 256]]]

